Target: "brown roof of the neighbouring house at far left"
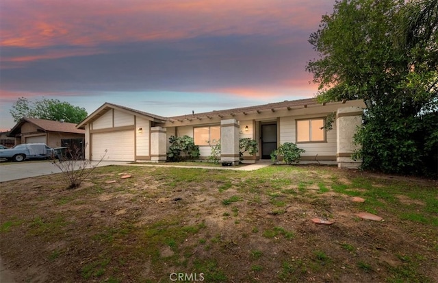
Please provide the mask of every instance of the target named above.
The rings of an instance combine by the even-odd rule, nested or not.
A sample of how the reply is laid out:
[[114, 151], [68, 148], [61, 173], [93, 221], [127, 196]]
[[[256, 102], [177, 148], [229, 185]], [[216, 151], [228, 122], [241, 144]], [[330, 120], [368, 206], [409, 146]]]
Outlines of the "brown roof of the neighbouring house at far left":
[[73, 134], [85, 134], [85, 130], [77, 129], [75, 123], [66, 123], [61, 121], [51, 121], [36, 118], [24, 117], [19, 121], [10, 131], [9, 136], [21, 133], [21, 126], [24, 123], [32, 123], [39, 127], [44, 132], [62, 132], [62, 133], [73, 133]]

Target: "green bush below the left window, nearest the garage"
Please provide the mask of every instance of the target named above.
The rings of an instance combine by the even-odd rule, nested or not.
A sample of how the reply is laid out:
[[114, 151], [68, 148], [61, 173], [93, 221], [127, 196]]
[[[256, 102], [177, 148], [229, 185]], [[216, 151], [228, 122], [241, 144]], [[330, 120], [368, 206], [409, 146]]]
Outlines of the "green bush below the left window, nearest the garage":
[[179, 162], [199, 158], [199, 147], [190, 136], [170, 136], [169, 143], [168, 160]]

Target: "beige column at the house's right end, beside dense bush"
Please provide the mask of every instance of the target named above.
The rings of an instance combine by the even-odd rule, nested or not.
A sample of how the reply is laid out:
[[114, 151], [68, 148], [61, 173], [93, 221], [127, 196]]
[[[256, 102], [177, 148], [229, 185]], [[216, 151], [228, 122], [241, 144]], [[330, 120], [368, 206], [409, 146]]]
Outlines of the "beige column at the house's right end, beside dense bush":
[[352, 160], [358, 147], [353, 143], [357, 127], [362, 125], [363, 109], [359, 107], [339, 108], [336, 114], [336, 161], [338, 168], [357, 169], [362, 160]]

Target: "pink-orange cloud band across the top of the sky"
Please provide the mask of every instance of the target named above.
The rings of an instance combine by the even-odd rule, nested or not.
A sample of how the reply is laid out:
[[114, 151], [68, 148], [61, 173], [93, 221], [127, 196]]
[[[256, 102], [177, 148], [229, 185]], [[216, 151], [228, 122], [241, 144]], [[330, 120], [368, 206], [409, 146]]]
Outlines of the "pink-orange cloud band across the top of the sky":
[[[96, 46], [201, 35], [278, 34], [318, 24], [301, 1], [7, 1], [0, 45]], [[13, 12], [8, 12], [9, 10]], [[21, 16], [17, 16], [16, 13]]]

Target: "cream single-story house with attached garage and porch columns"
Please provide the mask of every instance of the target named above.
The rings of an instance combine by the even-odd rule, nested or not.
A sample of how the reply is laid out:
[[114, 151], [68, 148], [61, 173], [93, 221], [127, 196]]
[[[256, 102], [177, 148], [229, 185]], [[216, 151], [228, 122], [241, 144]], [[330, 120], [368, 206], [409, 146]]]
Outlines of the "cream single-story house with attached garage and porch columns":
[[[211, 154], [220, 139], [221, 161], [238, 162], [240, 138], [259, 143], [257, 156], [245, 154], [244, 162], [269, 160], [272, 150], [292, 142], [305, 149], [302, 162], [357, 167], [351, 160], [352, 136], [365, 108], [362, 100], [318, 103], [315, 99], [283, 101], [259, 106], [164, 117], [104, 103], [77, 125], [85, 130], [86, 158], [114, 161], [166, 160], [170, 136], [191, 136], [201, 158]], [[333, 130], [322, 128], [326, 116], [336, 113]]]

